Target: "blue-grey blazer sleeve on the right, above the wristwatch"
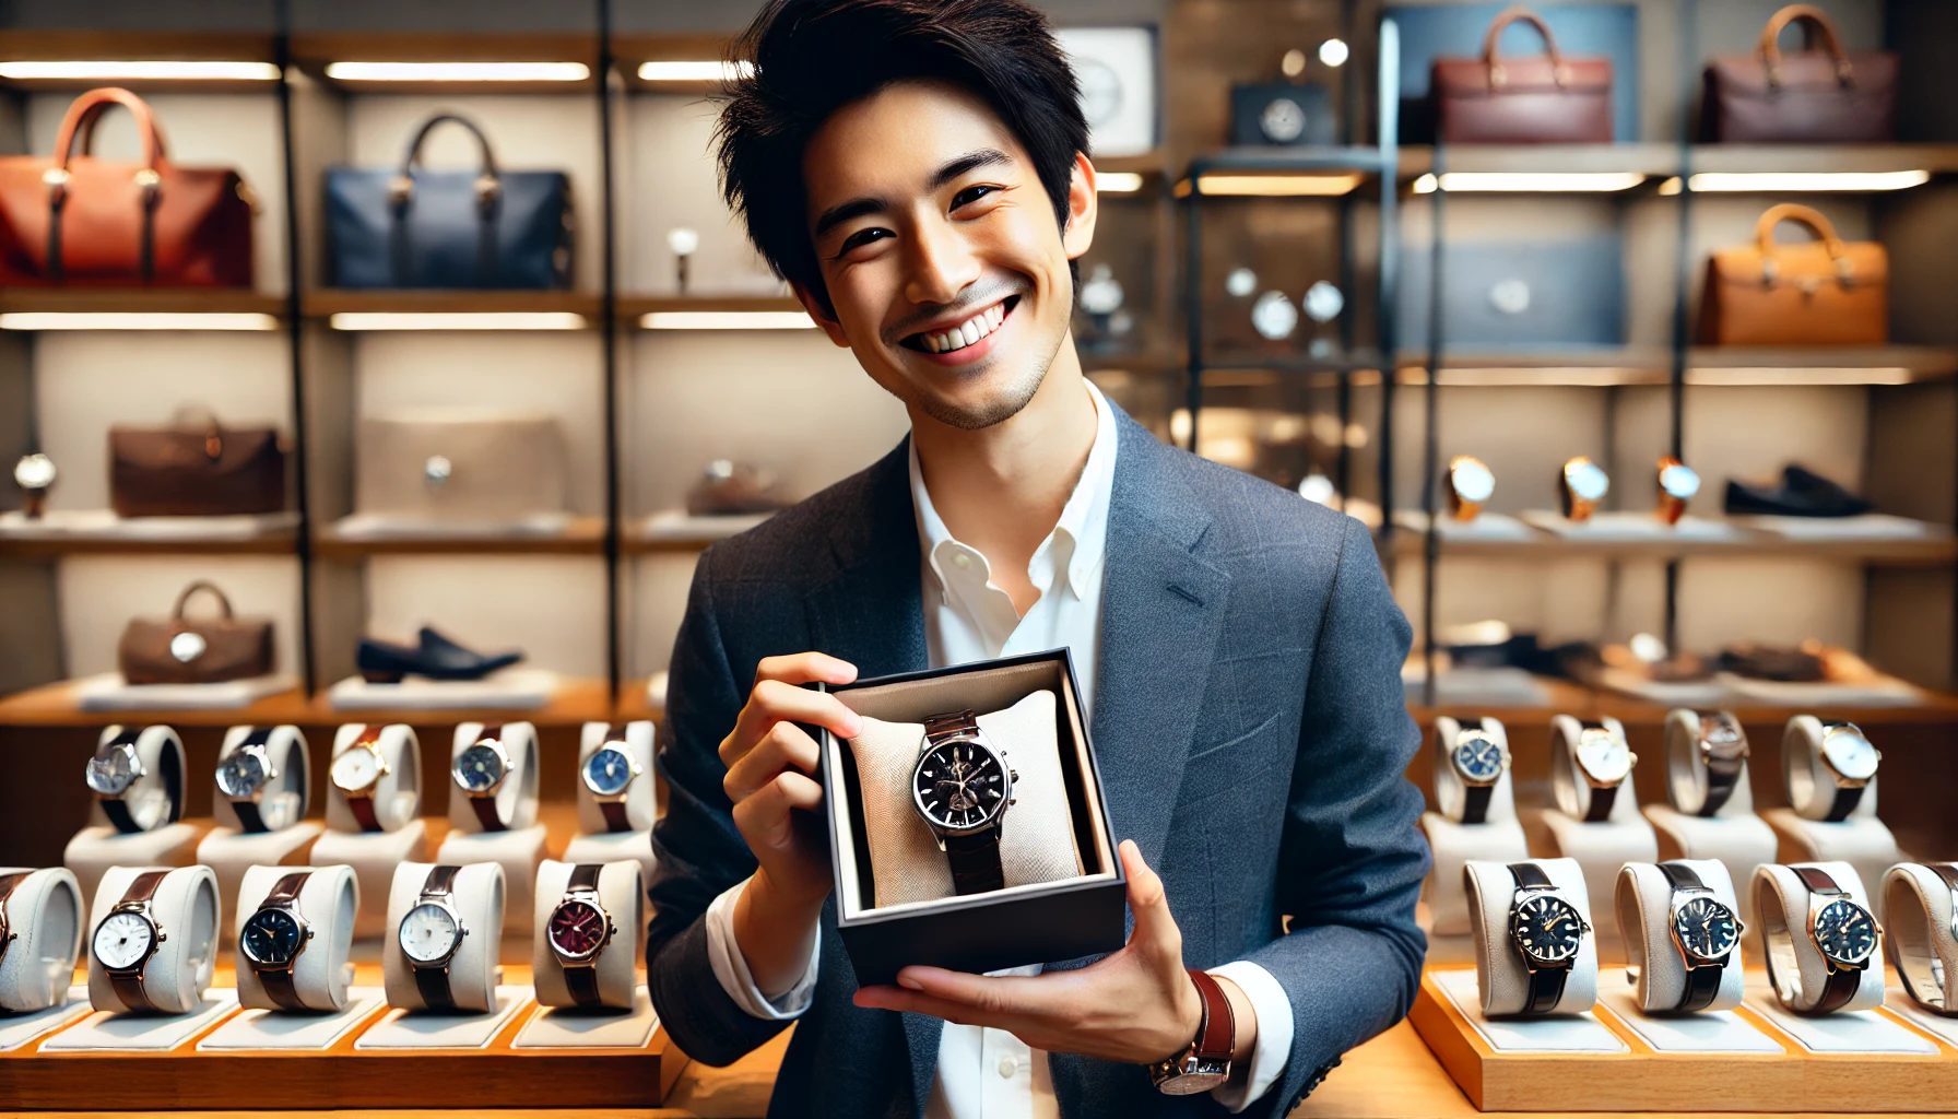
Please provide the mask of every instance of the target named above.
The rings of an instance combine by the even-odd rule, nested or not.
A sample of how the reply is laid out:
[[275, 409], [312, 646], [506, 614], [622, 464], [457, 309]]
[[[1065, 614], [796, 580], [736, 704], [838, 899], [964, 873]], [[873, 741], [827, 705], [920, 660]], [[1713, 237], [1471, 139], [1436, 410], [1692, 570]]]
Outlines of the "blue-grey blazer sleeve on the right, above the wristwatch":
[[1406, 778], [1422, 733], [1400, 684], [1414, 635], [1365, 525], [1343, 523], [1279, 849], [1290, 931], [1249, 956], [1292, 1001], [1292, 1056], [1245, 1115], [1284, 1115], [1339, 1054], [1406, 1017], [1427, 952], [1414, 923], [1423, 798]]

